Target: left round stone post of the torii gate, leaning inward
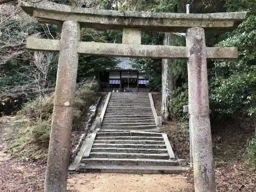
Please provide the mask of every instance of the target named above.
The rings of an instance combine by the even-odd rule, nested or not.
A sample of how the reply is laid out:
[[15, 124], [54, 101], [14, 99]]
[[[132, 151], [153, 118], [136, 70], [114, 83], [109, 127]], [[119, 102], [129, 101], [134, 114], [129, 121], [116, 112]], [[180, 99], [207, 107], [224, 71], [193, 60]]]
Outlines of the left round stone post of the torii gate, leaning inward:
[[79, 24], [70, 20], [64, 22], [60, 39], [45, 192], [65, 192], [67, 189], [79, 41]]

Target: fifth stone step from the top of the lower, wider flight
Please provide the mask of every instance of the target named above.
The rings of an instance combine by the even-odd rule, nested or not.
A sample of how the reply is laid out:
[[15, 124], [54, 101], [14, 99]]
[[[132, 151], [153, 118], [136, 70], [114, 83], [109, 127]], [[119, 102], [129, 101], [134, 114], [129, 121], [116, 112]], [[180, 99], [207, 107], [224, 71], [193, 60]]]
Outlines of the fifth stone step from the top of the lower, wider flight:
[[108, 153], [144, 153], [144, 154], [163, 154], [168, 153], [166, 148], [111, 148], [111, 147], [94, 147], [91, 152], [108, 152]]

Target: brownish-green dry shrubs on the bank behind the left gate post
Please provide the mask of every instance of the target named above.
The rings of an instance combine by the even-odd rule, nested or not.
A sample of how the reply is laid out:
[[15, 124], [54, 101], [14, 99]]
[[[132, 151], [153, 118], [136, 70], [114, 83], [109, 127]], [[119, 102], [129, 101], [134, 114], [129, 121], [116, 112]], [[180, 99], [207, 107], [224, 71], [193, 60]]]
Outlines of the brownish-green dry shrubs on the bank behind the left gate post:
[[[88, 80], [77, 85], [74, 98], [72, 131], [81, 131], [89, 106], [98, 98], [98, 83]], [[46, 161], [50, 140], [54, 93], [31, 100], [18, 112], [12, 122], [8, 151], [13, 157]]]

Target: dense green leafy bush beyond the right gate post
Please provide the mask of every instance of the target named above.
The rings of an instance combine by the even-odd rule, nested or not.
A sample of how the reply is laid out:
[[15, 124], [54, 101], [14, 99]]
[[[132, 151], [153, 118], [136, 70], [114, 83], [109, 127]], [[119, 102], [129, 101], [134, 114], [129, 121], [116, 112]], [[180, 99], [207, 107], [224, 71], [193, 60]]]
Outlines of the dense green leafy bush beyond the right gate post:
[[210, 100], [215, 112], [234, 114], [244, 112], [255, 116], [256, 97], [256, 15], [249, 14], [238, 29], [218, 46], [238, 47], [239, 59], [215, 61], [210, 69]]

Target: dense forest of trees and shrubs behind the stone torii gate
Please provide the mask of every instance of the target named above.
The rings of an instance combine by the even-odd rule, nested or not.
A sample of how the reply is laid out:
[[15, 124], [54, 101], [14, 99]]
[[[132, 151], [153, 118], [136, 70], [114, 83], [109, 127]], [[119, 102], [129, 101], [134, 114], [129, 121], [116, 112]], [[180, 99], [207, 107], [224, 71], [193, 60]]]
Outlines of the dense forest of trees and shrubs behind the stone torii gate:
[[[243, 162], [250, 170], [255, 171], [255, 0], [54, 0], [51, 2], [82, 8], [131, 11], [185, 13], [186, 4], [190, 5], [190, 13], [248, 11], [246, 20], [235, 30], [227, 32], [207, 31], [206, 46], [238, 47], [238, 59], [207, 61], [211, 129], [212, 135], [218, 135], [217, 137], [213, 136], [214, 140], [217, 140], [215, 140], [217, 151], [218, 142], [225, 143], [225, 138], [229, 137], [225, 134], [236, 133], [232, 138], [233, 143], [239, 142], [241, 139], [245, 140], [243, 153], [237, 153], [237, 155], [244, 158]], [[51, 94], [54, 91], [56, 81], [58, 53], [30, 51], [26, 49], [26, 39], [29, 36], [59, 39], [60, 32], [59, 26], [40, 24], [34, 18], [28, 16], [19, 7], [18, 1], [0, 0], [0, 116], [16, 115], [17, 112], [26, 114], [31, 109], [35, 112], [37, 108], [35, 99], [43, 100], [47, 96], [52, 98]], [[141, 44], [163, 45], [165, 37], [166, 33], [163, 32], [143, 31]], [[185, 38], [182, 36], [169, 33], [168, 38], [169, 45], [185, 46]], [[81, 40], [121, 43], [122, 31], [82, 28]], [[89, 82], [88, 79], [95, 78], [99, 70], [111, 69], [116, 65], [115, 59], [111, 57], [80, 55], [77, 83], [84, 86], [84, 83]], [[168, 100], [169, 113], [165, 120], [171, 126], [175, 122], [174, 126], [181, 129], [183, 124], [187, 124], [187, 117], [182, 111], [183, 105], [188, 103], [187, 63], [186, 60], [176, 59], [168, 60], [167, 65], [170, 69], [171, 78], [169, 83], [171, 89], [169, 90], [170, 97]], [[150, 80], [147, 85], [148, 88], [161, 92], [162, 60], [137, 58], [133, 67], [146, 74], [147, 79]], [[98, 87], [96, 83], [93, 82], [93, 88], [90, 87], [90, 89], [96, 90]], [[81, 90], [81, 87], [79, 89]], [[89, 94], [87, 97], [95, 97], [96, 95], [91, 91], [85, 94]], [[81, 95], [78, 95], [77, 108], [79, 108], [79, 103], [88, 99]], [[30, 106], [26, 103], [30, 103]], [[34, 103], [34, 105], [31, 103]], [[44, 112], [37, 111], [32, 116], [48, 122], [51, 115], [48, 114], [49, 111], [47, 110]], [[80, 112], [83, 113], [81, 109]], [[49, 129], [48, 125], [49, 123], [41, 127]], [[166, 127], [165, 130], [168, 129]], [[227, 127], [229, 130], [223, 132], [223, 127]], [[252, 131], [248, 131], [246, 127]], [[179, 134], [184, 134], [184, 132], [177, 132], [177, 135]], [[179, 138], [184, 139], [181, 136]], [[175, 141], [175, 143], [179, 146], [178, 141]], [[228, 149], [224, 148], [224, 151], [226, 150]], [[232, 150], [236, 151], [236, 148]], [[182, 149], [180, 152], [182, 152]]]

